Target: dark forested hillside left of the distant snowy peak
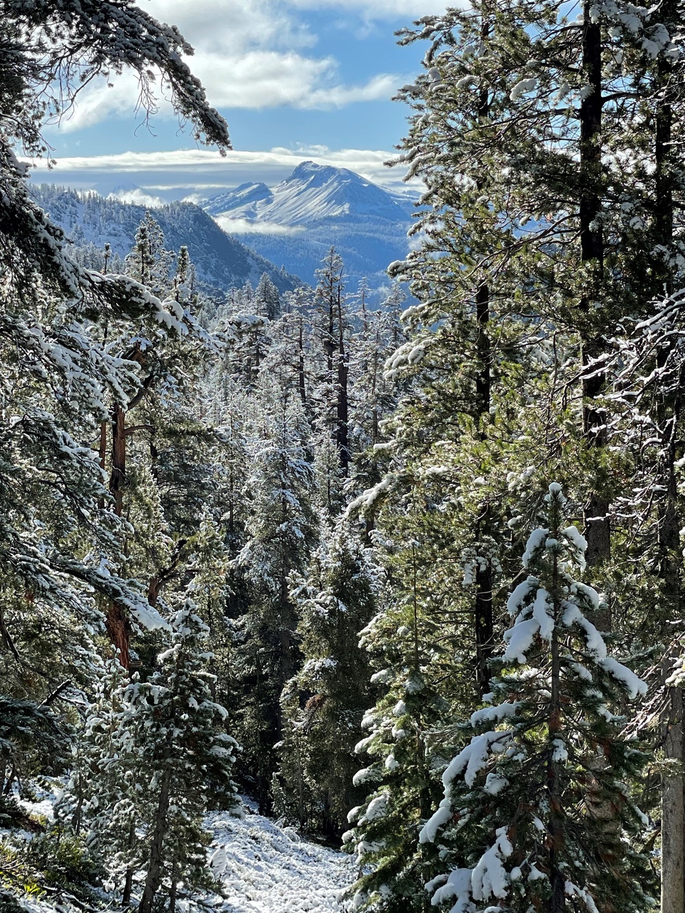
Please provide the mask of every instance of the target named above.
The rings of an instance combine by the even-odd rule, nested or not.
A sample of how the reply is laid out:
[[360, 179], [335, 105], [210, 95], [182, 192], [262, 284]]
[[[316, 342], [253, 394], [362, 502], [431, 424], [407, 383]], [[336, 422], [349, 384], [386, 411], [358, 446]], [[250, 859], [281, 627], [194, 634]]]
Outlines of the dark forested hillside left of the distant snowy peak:
[[[32, 186], [31, 193], [76, 246], [92, 243], [103, 247], [109, 242], [112, 251], [121, 257], [131, 250], [145, 215], [144, 206], [51, 184]], [[171, 250], [188, 247], [197, 276], [207, 289], [223, 292], [247, 281], [257, 285], [265, 272], [280, 292], [302, 284], [297, 276], [275, 267], [235, 237], [228, 236], [199, 206], [172, 203], [152, 212], [162, 227], [166, 247]]]

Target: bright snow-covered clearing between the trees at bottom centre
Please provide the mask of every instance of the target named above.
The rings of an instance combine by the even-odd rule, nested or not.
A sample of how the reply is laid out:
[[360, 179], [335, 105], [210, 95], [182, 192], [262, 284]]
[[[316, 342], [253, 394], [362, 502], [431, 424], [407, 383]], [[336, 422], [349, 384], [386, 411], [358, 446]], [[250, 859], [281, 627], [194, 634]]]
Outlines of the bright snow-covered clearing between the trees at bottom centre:
[[222, 913], [340, 913], [355, 878], [353, 857], [304, 840], [249, 809], [243, 819], [216, 812], [212, 866], [224, 883]]

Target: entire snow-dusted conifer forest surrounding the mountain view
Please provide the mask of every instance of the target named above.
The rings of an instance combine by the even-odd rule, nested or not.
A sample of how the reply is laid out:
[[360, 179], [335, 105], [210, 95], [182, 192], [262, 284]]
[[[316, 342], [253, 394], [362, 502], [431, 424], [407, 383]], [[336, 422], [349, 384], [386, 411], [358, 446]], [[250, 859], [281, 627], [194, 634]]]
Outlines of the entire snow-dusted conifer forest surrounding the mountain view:
[[2, 913], [685, 913], [685, 5], [397, 38], [381, 299], [218, 295], [28, 180], [103, 73], [230, 157], [179, 30], [0, 0]]

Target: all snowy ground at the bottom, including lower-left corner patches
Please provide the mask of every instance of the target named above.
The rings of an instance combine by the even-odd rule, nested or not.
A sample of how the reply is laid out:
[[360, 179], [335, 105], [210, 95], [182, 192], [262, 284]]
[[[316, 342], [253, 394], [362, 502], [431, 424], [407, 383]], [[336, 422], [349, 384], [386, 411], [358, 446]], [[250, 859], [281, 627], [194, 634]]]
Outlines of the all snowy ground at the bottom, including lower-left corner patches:
[[[54, 801], [55, 795], [45, 792], [41, 801], [21, 804], [31, 817], [49, 821]], [[242, 816], [214, 812], [206, 824], [213, 834], [209, 860], [224, 896], [209, 894], [198, 902], [179, 899], [177, 913], [342, 913], [342, 893], [356, 877], [353, 856], [312, 843], [293, 828], [258, 814], [249, 799], [243, 802]], [[30, 840], [32, 834], [15, 832], [15, 845], [17, 837]], [[117, 908], [117, 898], [107, 887], [98, 891], [100, 903], [92, 906], [61, 890], [54, 897], [13, 893], [18, 905], [7, 907], [8, 898], [0, 897], [0, 913], [95, 913]]]

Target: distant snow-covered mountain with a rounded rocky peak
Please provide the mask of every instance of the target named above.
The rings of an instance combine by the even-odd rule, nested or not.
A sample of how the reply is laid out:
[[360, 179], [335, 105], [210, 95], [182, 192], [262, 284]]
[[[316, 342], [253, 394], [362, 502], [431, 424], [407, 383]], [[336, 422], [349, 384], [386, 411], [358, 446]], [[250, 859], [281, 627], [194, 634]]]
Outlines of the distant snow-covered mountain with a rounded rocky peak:
[[387, 265], [408, 250], [411, 201], [346, 168], [302, 162], [274, 187], [241, 184], [210, 197], [204, 209], [229, 234], [308, 282], [332, 245], [352, 289], [363, 276], [384, 283]]

